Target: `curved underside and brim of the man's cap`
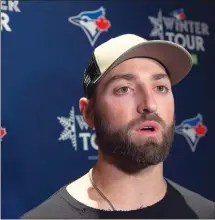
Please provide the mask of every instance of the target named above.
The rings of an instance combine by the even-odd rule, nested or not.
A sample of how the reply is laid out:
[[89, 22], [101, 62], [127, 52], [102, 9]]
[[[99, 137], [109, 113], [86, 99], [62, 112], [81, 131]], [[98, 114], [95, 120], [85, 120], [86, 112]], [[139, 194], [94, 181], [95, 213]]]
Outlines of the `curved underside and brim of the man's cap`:
[[185, 48], [171, 41], [152, 40], [140, 43], [124, 52], [105, 73], [123, 61], [135, 57], [146, 57], [159, 61], [168, 71], [172, 85], [180, 82], [192, 68], [192, 57]]

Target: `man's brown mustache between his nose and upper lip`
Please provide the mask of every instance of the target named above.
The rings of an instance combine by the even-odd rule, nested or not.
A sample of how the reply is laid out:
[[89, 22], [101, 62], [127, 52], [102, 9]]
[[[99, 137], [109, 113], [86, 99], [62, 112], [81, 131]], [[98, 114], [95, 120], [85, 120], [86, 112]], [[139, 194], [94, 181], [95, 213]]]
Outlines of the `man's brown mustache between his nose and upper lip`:
[[142, 114], [140, 117], [130, 121], [126, 127], [128, 130], [130, 130], [145, 121], [155, 121], [155, 122], [159, 123], [162, 127], [166, 127], [164, 120], [156, 113]]

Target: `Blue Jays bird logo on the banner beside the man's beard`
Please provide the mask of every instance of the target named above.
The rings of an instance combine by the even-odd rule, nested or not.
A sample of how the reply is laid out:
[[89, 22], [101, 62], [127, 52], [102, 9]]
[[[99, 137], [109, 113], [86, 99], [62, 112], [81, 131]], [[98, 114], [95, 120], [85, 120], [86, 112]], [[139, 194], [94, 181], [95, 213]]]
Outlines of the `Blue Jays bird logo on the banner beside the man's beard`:
[[207, 127], [203, 124], [202, 115], [198, 114], [196, 117], [186, 119], [176, 126], [175, 132], [185, 137], [192, 152], [194, 152], [200, 138], [207, 133]]

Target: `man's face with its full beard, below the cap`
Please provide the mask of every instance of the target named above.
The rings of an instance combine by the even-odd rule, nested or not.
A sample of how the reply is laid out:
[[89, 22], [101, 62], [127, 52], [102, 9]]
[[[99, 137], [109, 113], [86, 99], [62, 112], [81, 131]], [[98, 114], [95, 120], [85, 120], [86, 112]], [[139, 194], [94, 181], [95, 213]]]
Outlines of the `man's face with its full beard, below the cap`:
[[94, 111], [97, 144], [126, 172], [162, 162], [174, 135], [174, 99], [165, 69], [133, 58], [98, 83]]

